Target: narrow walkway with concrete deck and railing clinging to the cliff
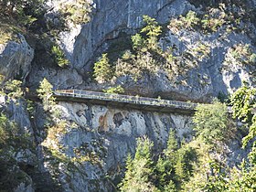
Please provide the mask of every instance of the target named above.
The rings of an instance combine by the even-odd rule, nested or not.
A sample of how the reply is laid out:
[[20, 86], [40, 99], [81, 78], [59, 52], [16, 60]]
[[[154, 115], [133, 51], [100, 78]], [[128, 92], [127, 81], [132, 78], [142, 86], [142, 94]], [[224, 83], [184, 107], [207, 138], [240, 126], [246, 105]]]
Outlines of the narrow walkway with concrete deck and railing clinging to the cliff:
[[54, 91], [57, 101], [75, 101], [100, 105], [109, 105], [122, 109], [136, 109], [153, 112], [177, 112], [192, 114], [196, 103], [184, 101], [169, 101], [162, 99], [112, 94], [97, 91], [58, 90]]

